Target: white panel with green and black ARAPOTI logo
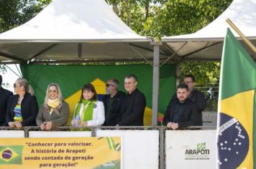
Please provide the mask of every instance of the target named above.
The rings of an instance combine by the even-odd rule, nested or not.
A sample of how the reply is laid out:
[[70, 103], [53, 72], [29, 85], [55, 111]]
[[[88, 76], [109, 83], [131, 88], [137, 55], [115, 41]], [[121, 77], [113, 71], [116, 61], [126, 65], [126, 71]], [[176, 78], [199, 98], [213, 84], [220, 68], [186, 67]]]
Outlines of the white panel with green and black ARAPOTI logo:
[[216, 130], [166, 130], [166, 168], [216, 168]]

